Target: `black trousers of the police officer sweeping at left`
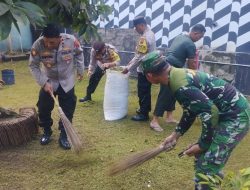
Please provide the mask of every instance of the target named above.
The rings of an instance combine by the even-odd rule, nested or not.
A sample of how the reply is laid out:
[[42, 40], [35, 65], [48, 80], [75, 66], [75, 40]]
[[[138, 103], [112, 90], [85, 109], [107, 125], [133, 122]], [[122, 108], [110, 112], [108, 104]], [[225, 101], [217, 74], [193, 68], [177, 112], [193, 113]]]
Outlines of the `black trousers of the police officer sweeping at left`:
[[[76, 95], [74, 88], [65, 93], [63, 88], [59, 86], [56, 92], [54, 92], [54, 95], [58, 96], [60, 107], [62, 108], [67, 118], [72, 122], [76, 107]], [[51, 126], [53, 125], [51, 111], [54, 108], [54, 100], [49, 93], [43, 90], [43, 88], [41, 88], [39, 92], [37, 107], [39, 126], [44, 128], [44, 130], [50, 130]], [[61, 120], [59, 121], [59, 129], [64, 130]]]

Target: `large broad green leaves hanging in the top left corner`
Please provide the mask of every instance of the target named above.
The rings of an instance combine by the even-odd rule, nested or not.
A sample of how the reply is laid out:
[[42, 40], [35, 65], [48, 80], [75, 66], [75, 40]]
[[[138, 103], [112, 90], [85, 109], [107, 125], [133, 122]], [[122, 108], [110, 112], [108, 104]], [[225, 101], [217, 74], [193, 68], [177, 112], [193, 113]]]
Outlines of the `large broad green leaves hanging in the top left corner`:
[[0, 0], [0, 40], [9, 36], [12, 24], [20, 33], [18, 23], [43, 26], [44, 17], [43, 10], [31, 2]]

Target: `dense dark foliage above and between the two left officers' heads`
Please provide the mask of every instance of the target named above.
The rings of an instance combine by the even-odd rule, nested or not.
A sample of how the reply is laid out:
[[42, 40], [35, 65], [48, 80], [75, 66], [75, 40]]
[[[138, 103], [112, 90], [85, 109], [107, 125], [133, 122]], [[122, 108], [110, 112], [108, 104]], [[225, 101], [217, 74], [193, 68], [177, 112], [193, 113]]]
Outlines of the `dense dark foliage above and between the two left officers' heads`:
[[108, 20], [111, 7], [101, 0], [33, 0], [45, 11], [48, 22], [60, 23], [66, 28], [72, 28], [79, 36], [89, 42], [91, 39], [100, 39], [97, 27], [92, 23], [99, 16]]

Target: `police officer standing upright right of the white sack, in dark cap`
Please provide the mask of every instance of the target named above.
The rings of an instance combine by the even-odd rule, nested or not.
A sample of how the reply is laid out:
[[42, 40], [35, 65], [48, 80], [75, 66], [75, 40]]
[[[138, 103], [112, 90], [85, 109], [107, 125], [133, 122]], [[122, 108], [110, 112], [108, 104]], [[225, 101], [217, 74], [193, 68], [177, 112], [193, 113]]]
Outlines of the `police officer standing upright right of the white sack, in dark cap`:
[[149, 119], [148, 113], [151, 111], [151, 83], [146, 79], [142, 72], [140, 60], [144, 55], [156, 49], [155, 36], [147, 26], [144, 17], [135, 17], [133, 24], [135, 30], [140, 34], [140, 38], [136, 46], [134, 58], [128, 63], [122, 73], [126, 74], [137, 67], [137, 93], [140, 108], [137, 111], [137, 115], [132, 117], [132, 120], [147, 121]]

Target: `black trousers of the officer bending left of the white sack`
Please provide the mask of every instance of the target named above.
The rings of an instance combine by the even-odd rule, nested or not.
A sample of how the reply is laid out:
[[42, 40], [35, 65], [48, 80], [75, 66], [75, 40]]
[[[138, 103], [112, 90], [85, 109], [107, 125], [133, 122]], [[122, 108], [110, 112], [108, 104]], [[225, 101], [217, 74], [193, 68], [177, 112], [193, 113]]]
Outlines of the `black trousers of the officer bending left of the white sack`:
[[91, 96], [95, 92], [96, 87], [98, 86], [102, 76], [105, 74], [100, 67], [96, 67], [95, 72], [89, 78], [89, 85], [87, 87], [87, 96]]

